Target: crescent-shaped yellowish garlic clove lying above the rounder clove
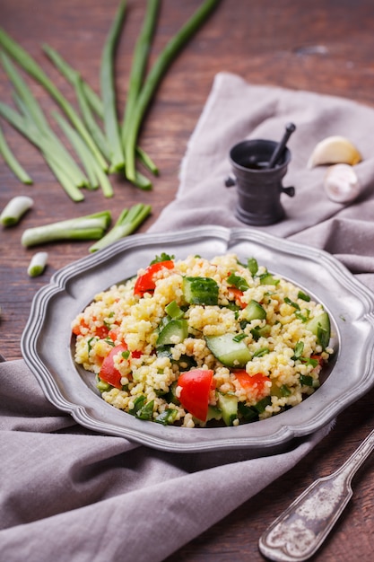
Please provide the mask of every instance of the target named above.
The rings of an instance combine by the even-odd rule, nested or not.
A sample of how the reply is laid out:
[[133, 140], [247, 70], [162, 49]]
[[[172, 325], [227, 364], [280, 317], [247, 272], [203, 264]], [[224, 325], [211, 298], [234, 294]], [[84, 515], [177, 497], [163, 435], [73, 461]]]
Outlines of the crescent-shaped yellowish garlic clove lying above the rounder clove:
[[308, 168], [314, 168], [321, 164], [345, 163], [357, 164], [361, 162], [362, 156], [356, 146], [345, 136], [327, 136], [317, 143], [310, 155]]

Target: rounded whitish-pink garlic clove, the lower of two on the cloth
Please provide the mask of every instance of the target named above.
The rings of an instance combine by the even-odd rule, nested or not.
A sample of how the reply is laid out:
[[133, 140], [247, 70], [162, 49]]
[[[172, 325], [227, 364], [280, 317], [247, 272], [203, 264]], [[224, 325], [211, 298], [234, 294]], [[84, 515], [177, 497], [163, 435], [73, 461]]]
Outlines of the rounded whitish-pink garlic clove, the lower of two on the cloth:
[[360, 182], [349, 164], [330, 166], [324, 180], [326, 195], [336, 203], [347, 203], [360, 193]]

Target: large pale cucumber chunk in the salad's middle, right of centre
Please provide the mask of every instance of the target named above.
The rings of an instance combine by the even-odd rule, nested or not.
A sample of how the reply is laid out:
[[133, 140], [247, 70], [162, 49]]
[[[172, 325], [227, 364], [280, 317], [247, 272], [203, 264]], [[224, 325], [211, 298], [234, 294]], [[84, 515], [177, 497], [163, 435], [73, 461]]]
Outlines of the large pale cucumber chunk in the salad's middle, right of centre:
[[226, 367], [244, 367], [252, 359], [247, 344], [235, 341], [235, 334], [222, 334], [222, 336], [206, 336], [206, 345], [222, 364]]

